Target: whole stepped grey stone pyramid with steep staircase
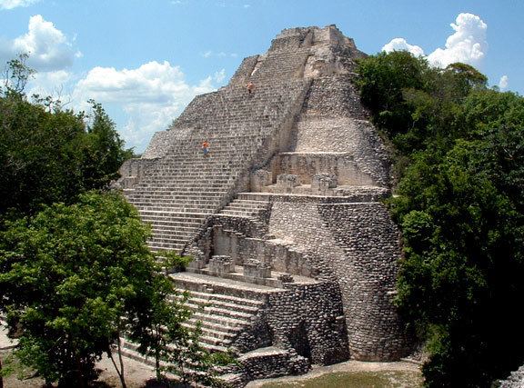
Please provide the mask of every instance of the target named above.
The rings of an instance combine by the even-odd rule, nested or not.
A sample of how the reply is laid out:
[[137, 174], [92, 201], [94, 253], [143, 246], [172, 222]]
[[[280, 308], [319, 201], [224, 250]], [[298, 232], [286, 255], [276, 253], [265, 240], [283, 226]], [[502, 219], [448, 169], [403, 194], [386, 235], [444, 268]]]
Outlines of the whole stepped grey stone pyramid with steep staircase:
[[335, 25], [286, 29], [121, 169], [151, 249], [194, 256], [170, 276], [202, 343], [238, 353], [233, 380], [409, 351], [388, 154], [351, 82], [362, 56]]

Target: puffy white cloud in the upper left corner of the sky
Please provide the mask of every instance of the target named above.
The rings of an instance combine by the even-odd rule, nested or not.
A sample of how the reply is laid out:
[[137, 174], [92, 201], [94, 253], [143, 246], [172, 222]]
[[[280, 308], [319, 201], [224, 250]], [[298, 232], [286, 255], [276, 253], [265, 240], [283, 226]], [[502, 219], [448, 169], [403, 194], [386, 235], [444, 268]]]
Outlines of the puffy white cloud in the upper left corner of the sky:
[[0, 61], [7, 62], [19, 54], [28, 54], [27, 65], [38, 72], [62, 70], [82, 54], [73, 43], [42, 15], [29, 18], [28, 31], [12, 41], [0, 40]]

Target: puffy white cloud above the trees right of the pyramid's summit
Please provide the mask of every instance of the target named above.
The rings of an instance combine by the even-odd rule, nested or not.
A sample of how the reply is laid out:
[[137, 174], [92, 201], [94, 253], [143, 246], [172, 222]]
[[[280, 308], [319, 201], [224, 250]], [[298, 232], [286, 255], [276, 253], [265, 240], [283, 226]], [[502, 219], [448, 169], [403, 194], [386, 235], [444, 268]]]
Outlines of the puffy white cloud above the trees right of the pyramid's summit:
[[[455, 30], [449, 35], [445, 48], [437, 48], [427, 56], [430, 65], [446, 67], [455, 62], [469, 65], [479, 65], [486, 55], [488, 42], [486, 31], [488, 25], [473, 14], [459, 14], [455, 23], [451, 23]], [[404, 38], [395, 38], [382, 47], [383, 51], [407, 50], [414, 55], [423, 55], [424, 51], [418, 45], [409, 45]]]

